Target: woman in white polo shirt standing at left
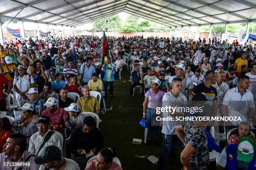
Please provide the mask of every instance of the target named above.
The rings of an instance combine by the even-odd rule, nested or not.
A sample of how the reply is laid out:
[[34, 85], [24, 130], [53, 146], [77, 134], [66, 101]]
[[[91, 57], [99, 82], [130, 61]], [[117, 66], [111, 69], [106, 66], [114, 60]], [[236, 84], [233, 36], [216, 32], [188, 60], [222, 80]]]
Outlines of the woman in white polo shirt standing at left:
[[29, 96], [26, 95], [30, 87], [35, 86], [35, 81], [32, 76], [27, 75], [25, 66], [18, 66], [18, 75], [13, 81], [13, 89], [19, 106], [23, 106], [26, 100], [29, 101]]

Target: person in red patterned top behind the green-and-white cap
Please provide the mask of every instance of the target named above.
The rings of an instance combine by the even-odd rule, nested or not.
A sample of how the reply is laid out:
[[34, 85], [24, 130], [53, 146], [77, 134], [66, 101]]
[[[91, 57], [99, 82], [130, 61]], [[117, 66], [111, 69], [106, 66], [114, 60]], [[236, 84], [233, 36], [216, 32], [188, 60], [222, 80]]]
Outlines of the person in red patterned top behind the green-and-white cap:
[[250, 137], [256, 142], [255, 137], [251, 134], [251, 127], [246, 122], [241, 122], [235, 131], [235, 134], [230, 135], [228, 144], [238, 144], [241, 137]]

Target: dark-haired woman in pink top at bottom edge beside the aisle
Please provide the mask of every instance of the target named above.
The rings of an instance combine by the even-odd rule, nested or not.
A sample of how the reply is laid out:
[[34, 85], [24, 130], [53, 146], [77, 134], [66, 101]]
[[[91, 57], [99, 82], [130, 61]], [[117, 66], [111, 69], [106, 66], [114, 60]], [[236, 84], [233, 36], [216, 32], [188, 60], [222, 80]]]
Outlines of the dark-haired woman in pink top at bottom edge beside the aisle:
[[113, 161], [115, 155], [115, 148], [102, 149], [98, 153], [96, 160], [90, 162], [85, 170], [123, 170], [118, 163]]

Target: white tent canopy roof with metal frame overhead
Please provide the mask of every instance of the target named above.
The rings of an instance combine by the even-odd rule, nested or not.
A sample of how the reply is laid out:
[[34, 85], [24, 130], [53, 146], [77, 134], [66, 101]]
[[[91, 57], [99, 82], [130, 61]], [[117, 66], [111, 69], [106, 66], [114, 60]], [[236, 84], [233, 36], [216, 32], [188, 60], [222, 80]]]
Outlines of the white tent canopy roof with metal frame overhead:
[[256, 21], [255, 0], [2, 0], [1, 19], [76, 27], [126, 12], [169, 27]]

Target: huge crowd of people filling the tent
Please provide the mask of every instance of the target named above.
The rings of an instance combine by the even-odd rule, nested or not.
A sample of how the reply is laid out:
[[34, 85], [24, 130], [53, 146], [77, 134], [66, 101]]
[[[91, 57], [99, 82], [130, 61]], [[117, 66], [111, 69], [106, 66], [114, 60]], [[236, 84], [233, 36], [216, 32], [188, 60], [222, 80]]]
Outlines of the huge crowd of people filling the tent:
[[[107, 39], [106, 56], [102, 56], [103, 39], [96, 36], [14, 38], [0, 45], [0, 162], [27, 161], [29, 168], [40, 170], [121, 170], [115, 161], [115, 148], [102, 149], [106, 139], [96, 119], [106, 112], [104, 98], [114, 98], [115, 79], [127, 69], [131, 71], [130, 97], [136, 98], [137, 86], [145, 96], [142, 118], [149, 124], [149, 147], [160, 146], [161, 129], [158, 170], [166, 166], [166, 157], [169, 165], [175, 165], [175, 153], [182, 145], [184, 170], [206, 170], [211, 150], [221, 152], [218, 168], [250, 169], [256, 165], [253, 156], [243, 159], [249, 150], [244, 143], [250, 143], [254, 150], [256, 142], [256, 45], [218, 38], [183, 40], [142, 35]], [[95, 91], [100, 100], [90, 95]], [[74, 99], [68, 97], [70, 92]], [[22, 111], [10, 121], [4, 115], [9, 94]], [[226, 133], [236, 128], [227, 139], [227, 147], [221, 149], [215, 143], [208, 121], [156, 123], [158, 107], [178, 103], [194, 107], [207, 104], [201, 116], [240, 116], [239, 121], [225, 122]], [[162, 118], [169, 116], [169, 112], [161, 111]], [[239, 154], [234, 155], [236, 150]], [[92, 157], [94, 160], [89, 161]], [[0, 168], [11, 169], [4, 164]]]

